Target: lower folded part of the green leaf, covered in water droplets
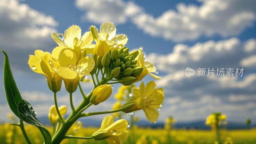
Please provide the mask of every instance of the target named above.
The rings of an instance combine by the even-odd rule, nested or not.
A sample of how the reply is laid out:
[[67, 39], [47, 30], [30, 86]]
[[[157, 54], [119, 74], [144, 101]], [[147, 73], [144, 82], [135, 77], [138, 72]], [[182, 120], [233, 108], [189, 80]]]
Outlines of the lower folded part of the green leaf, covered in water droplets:
[[20, 119], [22, 119], [24, 122], [28, 124], [35, 125], [40, 130], [40, 132], [44, 137], [44, 144], [51, 144], [52, 142], [51, 133], [41, 125], [30, 103], [28, 103], [24, 99], [20, 100], [18, 104], [18, 112], [20, 115], [19, 116]]

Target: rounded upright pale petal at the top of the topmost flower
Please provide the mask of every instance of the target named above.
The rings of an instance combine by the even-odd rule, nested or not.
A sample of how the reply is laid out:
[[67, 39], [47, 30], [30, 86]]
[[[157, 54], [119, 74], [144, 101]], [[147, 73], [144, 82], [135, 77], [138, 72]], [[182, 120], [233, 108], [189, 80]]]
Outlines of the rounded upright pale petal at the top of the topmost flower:
[[100, 26], [100, 33], [107, 33], [108, 40], [111, 40], [114, 36], [116, 36], [116, 27], [111, 22], [105, 22]]

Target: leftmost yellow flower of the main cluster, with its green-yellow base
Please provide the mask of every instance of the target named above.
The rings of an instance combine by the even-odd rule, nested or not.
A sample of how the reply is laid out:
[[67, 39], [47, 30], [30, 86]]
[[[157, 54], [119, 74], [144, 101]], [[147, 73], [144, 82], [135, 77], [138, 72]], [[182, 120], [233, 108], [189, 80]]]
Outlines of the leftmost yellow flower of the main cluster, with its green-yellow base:
[[[35, 55], [30, 55], [28, 59], [29, 67], [36, 73], [46, 77], [49, 89], [52, 92], [59, 92], [61, 87], [61, 77], [51, 68], [49, 60], [56, 56], [55, 52], [43, 52], [36, 50]], [[56, 58], [56, 57], [55, 57]]]

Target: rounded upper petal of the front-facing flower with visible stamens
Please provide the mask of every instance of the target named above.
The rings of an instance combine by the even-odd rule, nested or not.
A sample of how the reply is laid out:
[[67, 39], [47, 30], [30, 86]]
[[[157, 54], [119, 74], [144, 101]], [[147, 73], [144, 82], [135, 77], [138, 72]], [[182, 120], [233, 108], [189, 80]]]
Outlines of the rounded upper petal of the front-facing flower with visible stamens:
[[76, 65], [76, 54], [72, 49], [62, 49], [59, 54], [59, 63], [61, 67], [67, 67], [70, 65]]

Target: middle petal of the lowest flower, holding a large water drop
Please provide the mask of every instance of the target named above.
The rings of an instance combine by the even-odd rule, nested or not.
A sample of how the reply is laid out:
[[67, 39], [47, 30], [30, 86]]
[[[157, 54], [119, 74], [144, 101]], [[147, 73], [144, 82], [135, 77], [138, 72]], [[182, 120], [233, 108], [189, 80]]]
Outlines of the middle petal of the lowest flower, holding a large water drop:
[[118, 136], [121, 132], [126, 131], [127, 125], [128, 122], [126, 120], [119, 119], [116, 122], [114, 122], [114, 124], [109, 125], [105, 130], [107, 130], [108, 132], [115, 130], [117, 132], [115, 136]]

